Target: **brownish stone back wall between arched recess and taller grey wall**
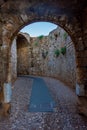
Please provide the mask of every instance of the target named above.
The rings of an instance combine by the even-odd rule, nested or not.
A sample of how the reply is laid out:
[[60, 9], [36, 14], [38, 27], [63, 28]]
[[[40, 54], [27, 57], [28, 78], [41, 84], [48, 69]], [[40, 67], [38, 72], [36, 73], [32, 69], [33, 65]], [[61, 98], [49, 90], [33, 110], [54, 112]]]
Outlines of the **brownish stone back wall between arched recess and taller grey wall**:
[[[42, 39], [39, 38], [31, 38], [30, 44], [30, 67], [29, 67], [29, 74], [30, 75], [45, 75], [47, 76], [47, 58], [43, 58], [42, 53], [43, 51], [48, 50], [48, 37], [43, 37]], [[44, 73], [43, 73], [44, 72]]]

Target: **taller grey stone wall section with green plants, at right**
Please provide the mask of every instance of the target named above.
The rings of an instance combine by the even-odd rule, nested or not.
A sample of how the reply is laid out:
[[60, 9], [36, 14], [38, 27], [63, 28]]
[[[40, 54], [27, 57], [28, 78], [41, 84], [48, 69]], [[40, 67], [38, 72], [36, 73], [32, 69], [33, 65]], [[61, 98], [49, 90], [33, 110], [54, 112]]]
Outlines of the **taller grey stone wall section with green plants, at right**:
[[[50, 55], [48, 66], [51, 69], [51, 75], [75, 87], [76, 84], [76, 64], [75, 64], [75, 50], [73, 42], [68, 34], [58, 27], [49, 34]], [[63, 55], [61, 49], [66, 47], [66, 53]], [[53, 53], [59, 49], [60, 54], [55, 57]]]

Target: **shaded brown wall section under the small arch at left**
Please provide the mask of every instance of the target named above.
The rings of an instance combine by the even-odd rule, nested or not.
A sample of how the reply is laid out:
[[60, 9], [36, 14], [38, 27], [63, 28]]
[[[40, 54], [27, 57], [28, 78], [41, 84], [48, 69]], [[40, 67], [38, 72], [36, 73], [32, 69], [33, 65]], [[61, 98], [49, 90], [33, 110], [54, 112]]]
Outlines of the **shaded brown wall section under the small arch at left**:
[[[29, 38], [29, 35], [26, 35]], [[29, 53], [31, 46], [29, 40], [24, 35], [19, 34], [17, 37], [17, 74], [29, 74], [30, 60]]]

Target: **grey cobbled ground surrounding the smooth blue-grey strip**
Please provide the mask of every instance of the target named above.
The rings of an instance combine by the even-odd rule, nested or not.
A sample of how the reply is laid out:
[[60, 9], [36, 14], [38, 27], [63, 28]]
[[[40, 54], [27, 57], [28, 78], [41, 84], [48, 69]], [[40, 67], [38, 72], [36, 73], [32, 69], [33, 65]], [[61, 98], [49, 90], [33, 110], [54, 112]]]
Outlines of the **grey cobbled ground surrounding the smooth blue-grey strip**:
[[14, 84], [11, 114], [0, 119], [0, 130], [87, 130], [87, 118], [77, 113], [77, 96], [63, 83], [43, 78], [56, 101], [55, 112], [28, 111], [32, 80], [19, 77]]

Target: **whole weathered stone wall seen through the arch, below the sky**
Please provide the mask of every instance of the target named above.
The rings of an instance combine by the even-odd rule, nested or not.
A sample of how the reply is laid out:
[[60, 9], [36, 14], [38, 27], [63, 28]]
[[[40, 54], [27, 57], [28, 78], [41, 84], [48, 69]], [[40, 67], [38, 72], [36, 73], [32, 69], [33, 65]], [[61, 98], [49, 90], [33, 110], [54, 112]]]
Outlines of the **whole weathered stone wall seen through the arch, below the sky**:
[[[20, 44], [21, 43], [21, 44]], [[66, 48], [65, 54], [61, 48]], [[56, 53], [59, 51], [59, 56]], [[18, 75], [30, 74], [58, 78], [75, 87], [75, 51], [68, 34], [58, 27], [48, 36], [31, 37], [30, 43], [17, 43]]]

